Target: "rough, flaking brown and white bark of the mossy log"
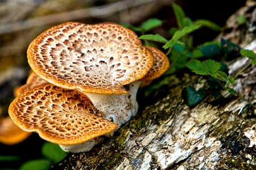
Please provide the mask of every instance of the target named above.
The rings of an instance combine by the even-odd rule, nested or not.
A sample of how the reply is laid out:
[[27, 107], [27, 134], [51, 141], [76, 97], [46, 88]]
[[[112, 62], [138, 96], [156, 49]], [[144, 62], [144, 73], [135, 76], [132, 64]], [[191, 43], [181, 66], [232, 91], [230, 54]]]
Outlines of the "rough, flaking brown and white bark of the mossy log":
[[[244, 32], [236, 23], [232, 25], [240, 14], [251, 15], [242, 27]], [[248, 1], [227, 21], [220, 37], [236, 39], [256, 52], [255, 35], [249, 29], [255, 16], [255, 2]], [[232, 32], [225, 33], [230, 28]], [[230, 62], [229, 73], [235, 75], [249, 62], [245, 57]], [[113, 138], [90, 152], [68, 154], [52, 169], [256, 169], [255, 109], [228, 92], [222, 92], [225, 103], [213, 105], [208, 96], [188, 107], [181, 91], [188, 85], [207, 86], [205, 77], [174, 75], [169, 82], [151, 99], [147, 97], [157, 101], [131, 118]], [[234, 90], [255, 105], [255, 67], [250, 65], [236, 82]]]

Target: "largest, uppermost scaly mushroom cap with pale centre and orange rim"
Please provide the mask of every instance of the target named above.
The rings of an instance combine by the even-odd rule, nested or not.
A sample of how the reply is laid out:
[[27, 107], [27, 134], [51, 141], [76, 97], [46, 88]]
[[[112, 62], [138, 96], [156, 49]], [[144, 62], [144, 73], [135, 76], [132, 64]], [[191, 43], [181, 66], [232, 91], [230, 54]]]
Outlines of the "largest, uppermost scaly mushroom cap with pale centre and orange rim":
[[32, 70], [56, 86], [97, 94], [128, 94], [154, 57], [130, 29], [114, 23], [64, 23], [48, 29], [27, 51]]

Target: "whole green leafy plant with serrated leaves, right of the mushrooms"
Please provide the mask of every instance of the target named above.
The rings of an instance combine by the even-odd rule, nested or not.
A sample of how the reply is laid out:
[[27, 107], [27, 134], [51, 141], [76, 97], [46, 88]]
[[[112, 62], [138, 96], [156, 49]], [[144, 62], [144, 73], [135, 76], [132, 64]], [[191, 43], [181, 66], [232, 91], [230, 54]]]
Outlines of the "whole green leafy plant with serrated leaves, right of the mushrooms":
[[[196, 90], [192, 86], [188, 86], [183, 89], [181, 96], [184, 99], [184, 103], [188, 106], [199, 103], [209, 95], [209, 92], [212, 94], [212, 97], [216, 99], [214, 103], [220, 104], [225, 100], [224, 97], [221, 96], [220, 90], [222, 89], [230, 92], [232, 95], [240, 97], [242, 100], [247, 101], [247, 103], [255, 108], [250, 101], [242, 97], [240, 94], [237, 94], [232, 88], [232, 86], [236, 83], [235, 79], [237, 76], [240, 75], [242, 71], [251, 64], [255, 65], [255, 53], [252, 50], [242, 49], [240, 46], [237, 46], [224, 39], [221, 39], [221, 42], [205, 42], [204, 44], [194, 47], [193, 36], [190, 34], [191, 32], [199, 29], [200, 27], [208, 27], [214, 31], [220, 31], [221, 27], [205, 19], [192, 21], [185, 16], [182, 8], [175, 3], [172, 3], [172, 8], [176, 16], [178, 28], [173, 27], [170, 29], [169, 33], [173, 35], [171, 40], [167, 40], [159, 34], [145, 35], [146, 31], [162, 25], [162, 20], [149, 19], [142, 23], [140, 27], [124, 24], [127, 28], [141, 33], [142, 35], [139, 38], [144, 40], [145, 44], [149, 44], [148, 40], [163, 43], [164, 45], [162, 48], [167, 50], [166, 55], [171, 62], [169, 69], [163, 76], [164, 78], [160, 80], [160, 82], [156, 82], [146, 89], [145, 95], [147, 96], [150, 91], [158, 89], [163, 84], [168, 83], [171, 74], [176, 73], [180, 69], [188, 67], [193, 73], [210, 76], [208, 79], [208, 90], [206, 88]], [[238, 16], [237, 22], [238, 24], [244, 24], [245, 18]], [[251, 59], [251, 63], [246, 65], [235, 76], [228, 75], [228, 67], [225, 65], [225, 63], [218, 62], [221, 57], [228, 61], [241, 55]], [[205, 58], [207, 58], [207, 60], [205, 60]], [[199, 59], [205, 61], [200, 61]]]

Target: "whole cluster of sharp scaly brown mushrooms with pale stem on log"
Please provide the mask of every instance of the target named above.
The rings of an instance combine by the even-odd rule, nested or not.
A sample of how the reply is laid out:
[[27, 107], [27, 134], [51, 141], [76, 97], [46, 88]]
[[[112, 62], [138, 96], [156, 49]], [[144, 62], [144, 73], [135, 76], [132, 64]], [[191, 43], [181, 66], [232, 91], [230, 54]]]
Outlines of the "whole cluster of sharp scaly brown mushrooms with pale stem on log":
[[[155, 51], [157, 53], [153, 54]], [[42, 78], [41, 83], [48, 84], [35, 86], [37, 83], [27, 81], [27, 85], [21, 88], [26, 91], [20, 90], [22, 94], [11, 103], [9, 114], [16, 125], [27, 131], [37, 131], [42, 138], [59, 144], [64, 151], [89, 151], [102, 142], [101, 135], [112, 137], [114, 129], [117, 130], [137, 113], [136, 94], [139, 85], [142, 80], [156, 78], [151, 72], [156, 74], [159, 71], [158, 65], [164, 65], [154, 64], [154, 56], [155, 62], [158, 62], [160, 52], [157, 49], [152, 49], [152, 52], [150, 47], [142, 46], [134, 32], [118, 24], [88, 25], [72, 22], [52, 27], [32, 41], [27, 51], [28, 63], [38, 75], [31, 76], [34, 76], [35, 82], [40, 82]], [[151, 68], [156, 71], [150, 71]], [[71, 97], [67, 97], [69, 95]], [[72, 107], [64, 99], [55, 97], [64, 97]], [[58, 100], [62, 103], [58, 103]], [[90, 105], [89, 110], [93, 113], [89, 113], [88, 109], [76, 112], [70, 110], [84, 108], [84, 105]], [[81, 126], [77, 127], [80, 129], [75, 130], [67, 118], [55, 116], [60, 112], [72, 118], [75, 115], [90, 120], [93, 120], [90, 117], [96, 117], [106, 125], [112, 122], [116, 126], [113, 128], [112, 125], [111, 130], [103, 130], [104, 133], [99, 133], [99, 129], [91, 130], [89, 137], [85, 137], [81, 127], [92, 127], [79, 119]], [[43, 115], [45, 118], [42, 118]], [[42, 124], [49, 126], [49, 131], [45, 125], [35, 123], [39, 118]], [[92, 125], [94, 127], [94, 123]], [[40, 129], [42, 127], [45, 129]], [[71, 136], [67, 134], [70, 133], [69, 129], [72, 129]], [[57, 134], [62, 136], [58, 138]]]

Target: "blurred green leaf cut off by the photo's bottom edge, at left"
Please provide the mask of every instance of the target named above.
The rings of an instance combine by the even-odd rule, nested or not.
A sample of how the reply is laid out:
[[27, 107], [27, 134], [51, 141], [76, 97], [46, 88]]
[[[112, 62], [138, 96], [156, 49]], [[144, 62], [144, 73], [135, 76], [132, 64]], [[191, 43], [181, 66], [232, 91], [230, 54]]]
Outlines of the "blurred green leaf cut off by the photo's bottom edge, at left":
[[19, 170], [48, 170], [51, 167], [51, 162], [46, 159], [35, 159], [35, 160], [28, 160], [27, 162], [23, 163]]

